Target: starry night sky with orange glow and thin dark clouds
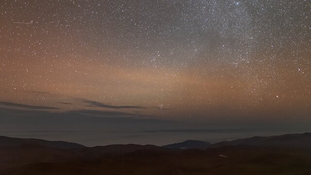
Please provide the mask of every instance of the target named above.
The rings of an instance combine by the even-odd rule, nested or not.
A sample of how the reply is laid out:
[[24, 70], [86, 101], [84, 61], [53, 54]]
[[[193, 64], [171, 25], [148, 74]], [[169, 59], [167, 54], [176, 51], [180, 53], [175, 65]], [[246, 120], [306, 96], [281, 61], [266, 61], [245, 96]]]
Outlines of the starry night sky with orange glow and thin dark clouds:
[[311, 130], [310, 0], [1, 0], [0, 7], [1, 135], [148, 131], [167, 140], [31, 136], [160, 144], [171, 132], [207, 140], [210, 128]]

